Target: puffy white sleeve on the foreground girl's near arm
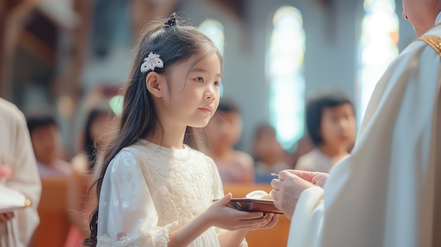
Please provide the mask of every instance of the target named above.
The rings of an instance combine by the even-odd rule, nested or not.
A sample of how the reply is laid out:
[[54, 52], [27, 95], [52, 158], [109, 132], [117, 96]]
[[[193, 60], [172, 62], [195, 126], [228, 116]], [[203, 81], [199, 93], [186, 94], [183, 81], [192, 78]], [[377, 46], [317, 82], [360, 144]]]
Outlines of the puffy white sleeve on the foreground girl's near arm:
[[99, 198], [98, 246], [167, 246], [178, 222], [158, 227], [139, 160], [121, 151], [108, 166]]

